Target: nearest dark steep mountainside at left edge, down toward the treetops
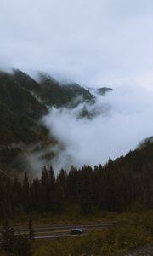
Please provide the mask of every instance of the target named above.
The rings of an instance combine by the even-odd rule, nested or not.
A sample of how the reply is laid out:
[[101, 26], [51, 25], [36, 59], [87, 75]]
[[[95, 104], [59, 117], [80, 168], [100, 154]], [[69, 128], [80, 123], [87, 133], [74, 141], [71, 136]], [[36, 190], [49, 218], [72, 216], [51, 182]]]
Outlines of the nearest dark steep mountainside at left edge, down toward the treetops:
[[21, 152], [48, 140], [47, 129], [39, 123], [46, 113], [47, 108], [20, 86], [14, 74], [0, 73], [0, 169], [12, 170]]

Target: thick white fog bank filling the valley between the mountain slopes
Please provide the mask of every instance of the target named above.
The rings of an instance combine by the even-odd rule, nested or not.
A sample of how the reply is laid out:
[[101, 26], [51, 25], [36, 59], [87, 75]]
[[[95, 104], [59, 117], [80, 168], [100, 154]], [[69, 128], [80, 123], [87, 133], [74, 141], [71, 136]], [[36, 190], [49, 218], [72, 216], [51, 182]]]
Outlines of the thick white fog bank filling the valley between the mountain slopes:
[[105, 96], [97, 95], [93, 106], [86, 104], [88, 111], [97, 113], [93, 119], [78, 118], [82, 105], [50, 108], [43, 122], [65, 147], [52, 161], [54, 170], [105, 164], [110, 156], [115, 159], [136, 148], [153, 134], [152, 98], [151, 90], [124, 84]]

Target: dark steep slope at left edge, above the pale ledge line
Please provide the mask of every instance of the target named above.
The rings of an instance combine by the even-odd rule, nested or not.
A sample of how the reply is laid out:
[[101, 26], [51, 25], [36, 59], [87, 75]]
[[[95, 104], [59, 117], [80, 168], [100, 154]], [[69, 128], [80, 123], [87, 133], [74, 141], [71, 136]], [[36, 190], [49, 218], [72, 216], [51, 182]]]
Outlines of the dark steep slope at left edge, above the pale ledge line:
[[36, 121], [47, 108], [16, 82], [14, 76], [0, 73], [0, 141], [2, 144], [37, 141], [40, 127]]

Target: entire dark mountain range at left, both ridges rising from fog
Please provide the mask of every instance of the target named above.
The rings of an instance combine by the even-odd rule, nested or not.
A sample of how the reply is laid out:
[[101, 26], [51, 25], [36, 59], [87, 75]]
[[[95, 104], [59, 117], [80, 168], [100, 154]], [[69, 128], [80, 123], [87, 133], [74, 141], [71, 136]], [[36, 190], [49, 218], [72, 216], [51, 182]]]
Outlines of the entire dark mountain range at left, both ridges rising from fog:
[[43, 158], [53, 156], [47, 148], [58, 142], [41, 123], [48, 108], [75, 108], [82, 103], [78, 118], [92, 119], [94, 102], [95, 96], [79, 84], [60, 84], [44, 73], [36, 80], [20, 70], [0, 72], [0, 168], [17, 166], [20, 153], [40, 148], [47, 151]]

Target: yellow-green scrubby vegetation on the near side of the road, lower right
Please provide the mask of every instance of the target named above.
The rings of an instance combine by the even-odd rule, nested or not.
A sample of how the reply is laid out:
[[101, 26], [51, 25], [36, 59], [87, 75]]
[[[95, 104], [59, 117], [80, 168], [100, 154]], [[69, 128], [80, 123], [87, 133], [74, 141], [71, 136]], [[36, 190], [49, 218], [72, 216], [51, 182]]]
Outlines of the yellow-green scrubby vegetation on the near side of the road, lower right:
[[34, 256], [126, 255], [130, 249], [153, 245], [153, 212], [124, 213], [122, 222], [86, 236], [39, 241], [33, 244]]

